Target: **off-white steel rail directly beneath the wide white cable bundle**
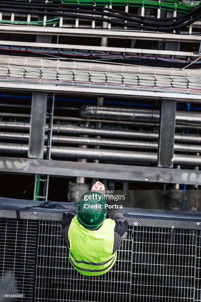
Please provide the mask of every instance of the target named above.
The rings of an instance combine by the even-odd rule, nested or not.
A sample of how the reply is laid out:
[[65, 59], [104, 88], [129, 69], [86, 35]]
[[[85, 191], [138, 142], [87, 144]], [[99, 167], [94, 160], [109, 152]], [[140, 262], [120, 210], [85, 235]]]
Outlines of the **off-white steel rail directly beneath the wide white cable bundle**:
[[171, 93], [171, 92], [149, 92], [137, 90], [123, 90], [111, 88], [91, 88], [91, 87], [72, 87], [72, 86], [56, 86], [43, 84], [20, 84], [0, 82], [0, 89], [14, 89], [26, 91], [46, 91], [46, 92], [62, 92], [72, 94], [96, 95], [96, 96], [122, 96], [122, 97], [147, 97], [155, 99], [174, 99], [177, 101], [201, 101], [201, 94], [187, 94], [187, 93]]

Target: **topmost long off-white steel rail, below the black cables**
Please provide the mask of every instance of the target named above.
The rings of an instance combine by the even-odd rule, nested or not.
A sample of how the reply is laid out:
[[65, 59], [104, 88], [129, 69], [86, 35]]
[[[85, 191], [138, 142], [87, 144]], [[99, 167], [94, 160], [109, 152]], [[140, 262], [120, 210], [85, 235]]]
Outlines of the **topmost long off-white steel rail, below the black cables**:
[[39, 27], [39, 26], [18, 26], [1, 25], [1, 33], [34, 34], [34, 35], [61, 35], [79, 37], [108, 37], [116, 39], [139, 39], [139, 40], [162, 40], [162, 41], [187, 41], [199, 42], [201, 36], [185, 34], [161, 34], [155, 32], [141, 31], [112, 31], [99, 29], [80, 29], [69, 27]]

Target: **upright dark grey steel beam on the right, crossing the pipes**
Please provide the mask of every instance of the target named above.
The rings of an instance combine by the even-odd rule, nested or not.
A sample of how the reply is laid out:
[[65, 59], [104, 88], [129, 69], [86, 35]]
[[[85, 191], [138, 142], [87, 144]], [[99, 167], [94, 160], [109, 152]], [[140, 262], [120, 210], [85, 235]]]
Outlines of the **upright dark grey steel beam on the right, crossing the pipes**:
[[176, 108], [177, 102], [175, 100], [162, 100], [158, 138], [158, 167], [173, 167]]

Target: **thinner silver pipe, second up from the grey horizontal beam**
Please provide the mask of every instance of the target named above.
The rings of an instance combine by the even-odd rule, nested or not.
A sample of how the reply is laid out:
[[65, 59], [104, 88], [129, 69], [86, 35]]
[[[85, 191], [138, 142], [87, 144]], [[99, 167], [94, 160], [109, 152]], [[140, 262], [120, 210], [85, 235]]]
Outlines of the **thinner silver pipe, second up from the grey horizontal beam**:
[[[2, 140], [29, 140], [28, 133], [10, 133], [0, 132], [0, 139]], [[47, 136], [45, 136], [47, 140]], [[95, 146], [107, 146], [107, 147], [121, 147], [121, 148], [137, 148], [137, 149], [158, 149], [158, 142], [145, 142], [136, 140], [119, 140], [119, 139], [107, 139], [107, 138], [91, 138], [91, 137], [76, 137], [76, 136], [52, 136], [53, 143], [59, 144], [84, 144], [84, 145], [95, 145]], [[174, 144], [175, 151], [181, 152], [199, 152], [199, 145], [189, 144]]]

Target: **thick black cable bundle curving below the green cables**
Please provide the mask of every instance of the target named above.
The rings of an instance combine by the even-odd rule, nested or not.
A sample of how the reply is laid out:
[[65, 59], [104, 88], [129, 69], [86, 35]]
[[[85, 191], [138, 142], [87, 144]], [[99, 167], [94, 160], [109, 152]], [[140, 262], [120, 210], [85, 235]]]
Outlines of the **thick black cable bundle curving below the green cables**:
[[[80, 6], [66, 4], [40, 4], [27, 2], [27, 4], [19, 4], [17, 1], [11, 3], [9, 8], [4, 1], [0, 3], [0, 9], [3, 12], [14, 12], [21, 14], [48, 15], [51, 18], [62, 17], [70, 19], [82, 19], [90, 21], [107, 22], [118, 27], [135, 28], [148, 31], [172, 31], [186, 27], [199, 20], [201, 5], [193, 8], [190, 12], [178, 17], [158, 19], [152, 17], [144, 17], [138, 14], [126, 13], [110, 8], [102, 8], [96, 6]], [[107, 16], [108, 18], [104, 18]]]

